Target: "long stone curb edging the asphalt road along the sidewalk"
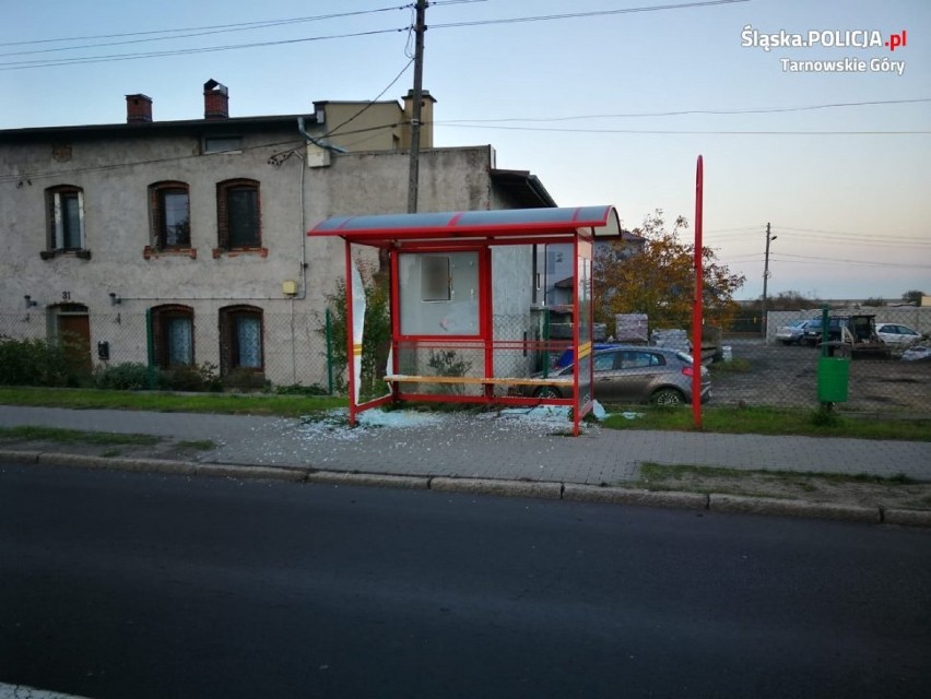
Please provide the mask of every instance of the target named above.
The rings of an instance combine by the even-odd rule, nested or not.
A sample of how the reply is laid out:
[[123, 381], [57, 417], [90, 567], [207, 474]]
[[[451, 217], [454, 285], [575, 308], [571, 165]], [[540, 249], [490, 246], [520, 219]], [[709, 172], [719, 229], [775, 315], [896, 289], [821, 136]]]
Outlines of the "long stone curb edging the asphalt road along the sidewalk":
[[728, 514], [764, 514], [827, 519], [869, 524], [894, 524], [931, 529], [931, 510], [837, 505], [834, 502], [805, 502], [779, 498], [721, 495], [712, 493], [676, 493], [671, 490], [640, 490], [613, 486], [594, 486], [552, 481], [506, 481], [495, 478], [459, 478], [448, 476], [405, 476], [380, 473], [318, 471], [287, 466], [258, 466], [237, 464], [203, 464], [168, 459], [105, 459], [85, 454], [59, 452], [0, 450], [0, 459], [24, 464], [64, 466], [75, 469], [109, 469], [143, 473], [167, 473], [224, 478], [254, 478], [310, 483], [331, 486], [368, 486], [497, 495], [575, 502], [633, 505], [637, 507], [664, 507], [674, 509], [707, 510]]

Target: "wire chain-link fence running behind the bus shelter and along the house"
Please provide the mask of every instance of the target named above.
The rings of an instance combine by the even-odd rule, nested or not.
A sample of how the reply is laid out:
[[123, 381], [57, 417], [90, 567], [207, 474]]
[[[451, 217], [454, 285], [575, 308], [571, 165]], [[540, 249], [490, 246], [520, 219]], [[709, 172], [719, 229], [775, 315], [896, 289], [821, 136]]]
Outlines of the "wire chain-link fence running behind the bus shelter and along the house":
[[[891, 340], [887, 359], [853, 358], [849, 365], [847, 401], [836, 406], [851, 412], [931, 417], [931, 308], [858, 309], [857, 312], [876, 312], [877, 324], [906, 327], [915, 330], [918, 337], [895, 344]], [[780, 327], [812, 317], [820, 317], [820, 311], [770, 312], [765, 337], [762, 332], [726, 334], [721, 352], [716, 353], [711, 364], [709, 407], [817, 406], [822, 351], [777, 339]], [[127, 363], [149, 364], [156, 340], [144, 312], [130, 313], [118, 307], [106, 313], [73, 317], [34, 308], [0, 315], [3, 337], [54, 340], [62, 328], [83, 339], [80, 351], [89, 372], [91, 368], [101, 371]], [[333, 360], [333, 340], [328, 336], [326, 315], [263, 312], [259, 337], [258, 354], [249, 356], [250, 363], [258, 366], [232, 366], [229, 357], [235, 351], [229, 345], [235, 344], [236, 337], [224, 331], [222, 313], [198, 312], [190, 335], [193, 364], [212, 367], [232, 388], [314, 387], [325, 393], [344, 391], [345, 367]], [[553, 336], [545, 312], [534, 312], [495, 316], [494, 339], [487, 346], [481, 341], [438, 339], [401, 343], [396, 352], [401, 374], [481, 377], [485, 376], [485, 364], [491, 356], [495, 377], [520, 378], [551, 369], [570, 346], [570, 339]], [[929, 350], [922, 355], [920, 347]], [[378, 370], [384, 371], [385, 367]], [[449, 389], [437, 387], [437, 391], [444, 390]], [[504, 392], [507, 387], [495, 390]]]

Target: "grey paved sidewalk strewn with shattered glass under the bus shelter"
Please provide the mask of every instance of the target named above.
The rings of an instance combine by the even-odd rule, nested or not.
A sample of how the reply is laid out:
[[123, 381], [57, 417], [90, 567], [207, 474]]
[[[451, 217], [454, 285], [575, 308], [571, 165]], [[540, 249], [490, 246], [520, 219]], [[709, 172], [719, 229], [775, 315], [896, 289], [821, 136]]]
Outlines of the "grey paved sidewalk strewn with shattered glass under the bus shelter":
[[[369, 415], [366, 413], [366, 415]], [[391, 415], [391, 414], [389, 414]], [[300, 419], [74, 411], [0, 405], [0, 426], [42, 425], [79, 430], [212, 440], [200, 463], [285, 466], [424, 477], [618, 485], [644, 462], [746, 470], [904, 474], [931, 482], [931, 442], [770, 437], [586, 427], [528, 419], [519, 411], [463, 415], [410, 413], [360, 426]], [[62, 448], [62, 451], [66, 450]]]

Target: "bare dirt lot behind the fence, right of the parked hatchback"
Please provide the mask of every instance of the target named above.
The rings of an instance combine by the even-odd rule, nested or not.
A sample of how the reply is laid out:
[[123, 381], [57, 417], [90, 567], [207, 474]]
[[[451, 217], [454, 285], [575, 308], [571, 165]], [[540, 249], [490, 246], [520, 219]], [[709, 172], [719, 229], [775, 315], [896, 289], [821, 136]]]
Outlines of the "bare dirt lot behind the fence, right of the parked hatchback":
[[[817, 405], [820, 350], [728, 342], [734, 359], [745, 359], [750, 369], [716, 372], [715, 404]], [[849, 370], [848, 401], [838, 403], [838, 410], [931, 415], [931, 362], [858, 358], [850, 362]]]

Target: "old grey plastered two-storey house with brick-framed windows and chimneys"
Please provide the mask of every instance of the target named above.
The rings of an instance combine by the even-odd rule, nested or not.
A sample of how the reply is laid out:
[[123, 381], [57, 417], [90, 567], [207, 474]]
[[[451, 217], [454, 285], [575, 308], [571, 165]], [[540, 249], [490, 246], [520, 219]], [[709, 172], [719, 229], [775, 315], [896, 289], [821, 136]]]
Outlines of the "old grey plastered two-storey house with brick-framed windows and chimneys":
[[[191, 120], [157, 121], [133, 94], [126, 123], [0, 131], [0, 335], [67, 333], [89, 366], [326, 386], [320, 329], [344, 249], [306, 232], [406, 210], [411, 95], [231, 117], [210, 80], [203, 100]], [[420, 211], [555, 205], [529, 173], [496, 169], [490, 145], [434, 147], [434, 102], [424, 94]], [[532, 256], [496, 264], [530, 270]], [[496, 309], [531, 323], [531, 274], [499, 291]]]

